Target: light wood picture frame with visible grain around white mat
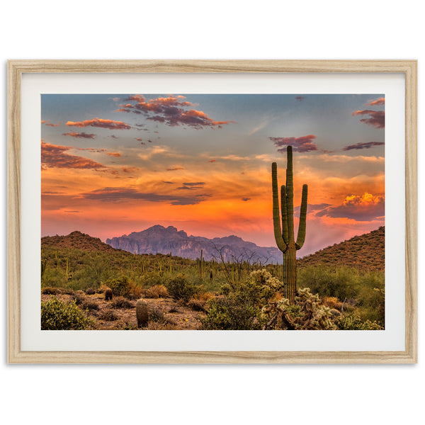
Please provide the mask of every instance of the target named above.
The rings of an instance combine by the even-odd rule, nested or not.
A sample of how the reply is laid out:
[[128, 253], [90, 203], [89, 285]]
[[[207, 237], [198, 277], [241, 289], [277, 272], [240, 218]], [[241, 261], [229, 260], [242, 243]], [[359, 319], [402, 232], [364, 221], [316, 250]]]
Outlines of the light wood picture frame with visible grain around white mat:
[[[23, 73], [314, 72], [402, 73], [405, 77], [404, 351], [21, 351], [21, 77]], [[8, 362], [9, 363], [416, 363], [417, 362], [416, 60], [9, 60]]]

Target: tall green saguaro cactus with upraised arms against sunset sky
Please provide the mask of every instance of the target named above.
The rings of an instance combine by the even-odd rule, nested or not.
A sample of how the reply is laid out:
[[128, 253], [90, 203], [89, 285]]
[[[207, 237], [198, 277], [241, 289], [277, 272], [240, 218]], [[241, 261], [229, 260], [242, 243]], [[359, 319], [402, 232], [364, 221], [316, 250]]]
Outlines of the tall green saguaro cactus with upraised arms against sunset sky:
[[307, 185], [302, 186], [300, 209], [300, 224], [295, 242], [294, 237], [294, 188], [293, 188], [293, 161], [292, 146], [288, 146], [286, 166], [286, 186], [280, 187], [280, 210], [282, 227], [280, 227], [279, 194], [278, 194], [278, 166], [271, 164], [271, 182], [273, 190], [273, 226], [278, 249], [283, 252], [283, 284], [285, 297], [291, 305], [295, 304], [297, 292], [297, 249], [301, 249], [305, 241], [305, 222], [307, 218]]

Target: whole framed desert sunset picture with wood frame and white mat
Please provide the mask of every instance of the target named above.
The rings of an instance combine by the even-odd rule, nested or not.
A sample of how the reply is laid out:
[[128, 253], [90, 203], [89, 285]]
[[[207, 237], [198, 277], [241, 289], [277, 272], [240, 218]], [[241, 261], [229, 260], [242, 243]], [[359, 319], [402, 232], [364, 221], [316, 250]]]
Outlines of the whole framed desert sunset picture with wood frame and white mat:
[[416, 61], [8, 62], [9, 363], [415, 363]]

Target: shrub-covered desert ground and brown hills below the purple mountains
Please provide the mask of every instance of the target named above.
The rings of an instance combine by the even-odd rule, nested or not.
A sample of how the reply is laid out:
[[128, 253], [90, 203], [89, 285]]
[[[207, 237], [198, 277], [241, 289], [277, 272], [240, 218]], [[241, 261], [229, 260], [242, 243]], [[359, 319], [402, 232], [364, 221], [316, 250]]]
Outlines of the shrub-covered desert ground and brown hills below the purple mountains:
[[81, 232], [43, 237], [42, 329], [383, 329], [383, 237], [382, 227], [300, 260], [295, 305], [281, 263], [132, 254]]

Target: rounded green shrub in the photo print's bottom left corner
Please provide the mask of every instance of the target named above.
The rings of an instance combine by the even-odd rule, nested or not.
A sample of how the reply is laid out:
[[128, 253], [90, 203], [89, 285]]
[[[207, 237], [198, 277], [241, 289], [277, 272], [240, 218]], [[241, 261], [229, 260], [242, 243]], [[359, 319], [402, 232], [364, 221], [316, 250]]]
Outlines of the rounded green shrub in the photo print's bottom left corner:
[[84, 330], [91, 328], [91, 321], [75, 302], [65, 303], [57, 297], [41, 303], [42, 330]]

